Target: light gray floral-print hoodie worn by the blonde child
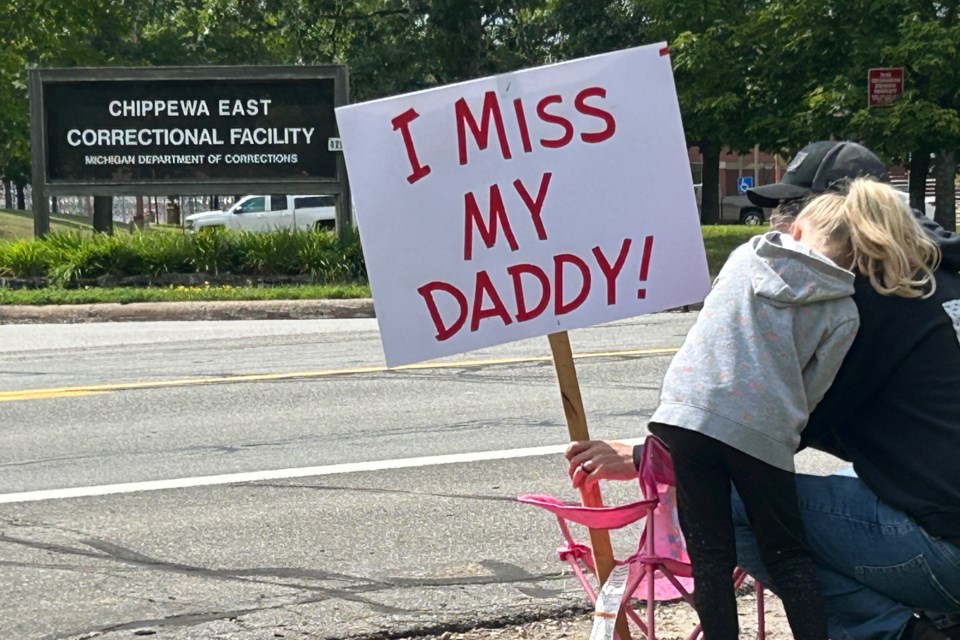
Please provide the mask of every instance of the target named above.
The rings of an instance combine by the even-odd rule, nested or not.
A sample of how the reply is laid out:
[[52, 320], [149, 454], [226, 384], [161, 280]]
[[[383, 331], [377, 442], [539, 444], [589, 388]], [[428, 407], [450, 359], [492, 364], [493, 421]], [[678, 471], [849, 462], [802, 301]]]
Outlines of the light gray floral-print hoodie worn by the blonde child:
[[670, 363], [651, 421], [793, 471], [800, 432], [860, 324], [853, 281], [785, 234], [738, 247]]

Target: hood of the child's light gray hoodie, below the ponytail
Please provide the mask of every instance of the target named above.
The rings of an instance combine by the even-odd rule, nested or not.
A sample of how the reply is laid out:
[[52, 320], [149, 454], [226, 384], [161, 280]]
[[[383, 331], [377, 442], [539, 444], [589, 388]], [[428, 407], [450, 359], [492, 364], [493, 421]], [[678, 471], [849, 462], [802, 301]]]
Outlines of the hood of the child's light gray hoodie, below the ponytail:
[[752, 238], [750, 280], [756, 295], [778, 306], [853, 295], [854, 275], [784, 233]]

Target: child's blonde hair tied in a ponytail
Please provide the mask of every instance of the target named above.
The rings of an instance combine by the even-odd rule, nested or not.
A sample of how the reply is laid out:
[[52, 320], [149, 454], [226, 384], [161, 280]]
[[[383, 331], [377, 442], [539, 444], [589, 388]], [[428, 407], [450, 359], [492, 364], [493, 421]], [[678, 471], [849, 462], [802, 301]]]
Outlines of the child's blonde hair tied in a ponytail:
[[883, 295], [926, 298], [940, 248], [888, 184], [866, 178], [849, 183], [846, 194], [826, 193], [800, 212], [837, 247], [848, 248], [850, 268], [869, 278]]

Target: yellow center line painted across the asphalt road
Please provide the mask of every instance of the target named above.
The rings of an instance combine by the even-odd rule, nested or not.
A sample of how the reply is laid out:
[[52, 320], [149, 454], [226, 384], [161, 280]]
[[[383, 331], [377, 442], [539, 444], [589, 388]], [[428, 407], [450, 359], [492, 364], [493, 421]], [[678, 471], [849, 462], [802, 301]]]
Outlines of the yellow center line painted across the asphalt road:
[[[574, 356], [575, 360], [591, 360], [597, 358], [630, 358], [646, 356], [672, 355], [675, 348], [667, 349], [630, 349], [626, 351], [600, 351], [595, 353], [580, 353]], [[47, 389], [23, 389], [20, 391], [0, 391], [0, 402], [15, 402], [18, 400], [47, 400], [52, 398], [73, 398], [80, 396], [110, 393], [113, 391], [131, 391], [136, 389], [167, 389], [172, 387], [189, 387], [206, 384], [235, 384], [238, 382], [269, 382], [275, 380], [295, 380], [304, 378], [327, 378], [333, 376], [349, 376], [365, 373], [385, 373], [391, 371], [416, 371], [427, 369], [456, 369], [463, 367], [481, 367], [503, 364], [519, 364], [525, 362], [549, 362], [551, 356], [515, 356], [510, 358], [487, 358], [482, 360], [462, 360], [457, 362], [424, 362], [403, 365], [400, 367], [352, 367], [349, 369], [326, 369], [322, 371], [294, 371], [285, 373], [252, 373], [233, 376], [218, 376], [206, 378], [181, 378], [179, 380], [152, 380], [146, 382], [117, 382], [113, 384], [98, 384], [82, 387], [53, 387]]]

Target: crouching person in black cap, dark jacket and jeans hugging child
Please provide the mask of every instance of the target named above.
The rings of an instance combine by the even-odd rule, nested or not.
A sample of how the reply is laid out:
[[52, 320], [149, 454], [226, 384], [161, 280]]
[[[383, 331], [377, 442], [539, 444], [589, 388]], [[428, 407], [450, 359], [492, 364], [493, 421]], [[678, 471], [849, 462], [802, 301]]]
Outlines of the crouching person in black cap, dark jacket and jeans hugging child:
[[[784, 208], [843, 190], [851, 178], [886, 175], [860, 144], [815, 142], [781, 182], [747, 195]], [[870, 274], [857, 274], [859, 331], [801, 438], [801, 449], [831, 453], [854, 472], [797, 476], [834, 640], [960, 640], [960, 628], [938, 630], [920, 613], [960, 613], [960, 238], [921, 223], [942, 253], [935, 291], [922, 299], [882, 295]], [[571, 443], [569, 472], [575, 486], [633, 478], [638, 453], [622, 443]], [[739, 565], [766, 581], [738, 497], [733, 516]]]

